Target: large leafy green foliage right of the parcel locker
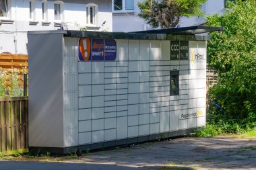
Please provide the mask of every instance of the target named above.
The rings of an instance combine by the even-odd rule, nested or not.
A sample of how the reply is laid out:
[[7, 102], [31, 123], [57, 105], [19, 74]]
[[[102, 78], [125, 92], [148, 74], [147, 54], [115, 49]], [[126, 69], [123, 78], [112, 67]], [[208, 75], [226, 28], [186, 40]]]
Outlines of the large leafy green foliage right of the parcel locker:
[[222, 34], [211, 33], [208, 43], [210, 66], [218, 84], [210, 99], [226, 111], [210, 112], [210, 122], [226, 124], [226, 130], [256, 126], [256, 1], [227, 3], [223, 15], [207, 17], [208, 26], [224, 26]]

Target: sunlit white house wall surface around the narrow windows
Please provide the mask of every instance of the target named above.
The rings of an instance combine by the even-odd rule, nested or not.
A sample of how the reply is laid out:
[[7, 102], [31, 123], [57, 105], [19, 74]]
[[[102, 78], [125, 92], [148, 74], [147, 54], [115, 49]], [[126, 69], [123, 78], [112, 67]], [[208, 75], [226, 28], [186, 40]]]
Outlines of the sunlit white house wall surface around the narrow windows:
[[[75, 26], [77, 22], [81, 27], [86, 25], [86, 4], [91, 1], [83, 0], [63, 0], [64, 2], [64, 19], [65, 29], [79, 30], [79, 27]], [[37, 25], [30, 25], [29, 22], [29, 1], [28, 0], [11, 0], [11, 10], [9, 11], [9, 17], [0, 17], [0, 53], [11, 52], [13, 54], [27, 54], [27, 32], [35, 30], [57, 30], [59, 27], [55, 27], [54, 20], [54, 1], [48, 1], [48, 19], [45, 22], [51, 22], [49, 26], [42, 26], [42, 1], [35, 1], [35, 15], [36, 18], [33, 22], [38, 22]], [[102, 23], [106, 21], [104, 29], [109, 32], [113, 30], [112, 15], [111, 15], [111, 1], [94, 1], [94, 4], [98, 5], [98, 16], [96, 27], [100, 27], [102, 30]], [[11, 24], [4, 24], [3, 19], [12, 20]]]

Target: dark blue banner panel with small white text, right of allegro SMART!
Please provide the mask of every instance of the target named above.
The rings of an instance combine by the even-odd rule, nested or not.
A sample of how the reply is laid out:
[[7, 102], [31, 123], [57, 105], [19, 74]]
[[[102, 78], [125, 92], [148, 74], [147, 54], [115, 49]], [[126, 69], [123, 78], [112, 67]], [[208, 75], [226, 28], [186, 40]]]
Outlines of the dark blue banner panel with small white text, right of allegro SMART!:
[[105, 39], [104, 53], [105, 60], [115, 60], [117, 58], [117, 42], [113, 39]]

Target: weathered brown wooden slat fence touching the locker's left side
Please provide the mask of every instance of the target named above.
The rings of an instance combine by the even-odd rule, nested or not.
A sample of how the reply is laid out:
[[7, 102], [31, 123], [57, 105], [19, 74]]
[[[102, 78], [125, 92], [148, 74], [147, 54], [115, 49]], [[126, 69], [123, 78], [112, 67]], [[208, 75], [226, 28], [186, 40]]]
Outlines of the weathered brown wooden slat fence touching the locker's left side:
[[0, 97], [0, 155], [28, 152], [28, 97]]

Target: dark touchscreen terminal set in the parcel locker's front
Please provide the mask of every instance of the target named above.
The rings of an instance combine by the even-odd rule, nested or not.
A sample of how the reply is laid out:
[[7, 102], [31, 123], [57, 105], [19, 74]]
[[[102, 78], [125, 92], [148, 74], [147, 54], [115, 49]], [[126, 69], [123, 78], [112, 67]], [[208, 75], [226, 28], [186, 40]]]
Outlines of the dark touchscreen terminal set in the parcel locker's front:
[[179, 71], [170, 71], [170, 95], [179, 95]]

